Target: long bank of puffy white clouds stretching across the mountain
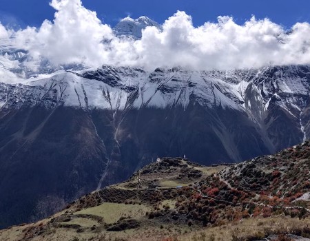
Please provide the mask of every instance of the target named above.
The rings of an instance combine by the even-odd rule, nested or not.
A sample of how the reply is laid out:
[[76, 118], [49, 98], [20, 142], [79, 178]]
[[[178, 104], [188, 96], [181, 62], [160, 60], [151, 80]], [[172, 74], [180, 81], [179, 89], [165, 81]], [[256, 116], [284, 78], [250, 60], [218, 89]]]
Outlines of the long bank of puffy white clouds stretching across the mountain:
[[81, 0], [52, 0], [50, 6], [56, 10], [54, 21], [17, 32], [0, 24], [0, 39], [14, 36], [19, 48], [28, 50], [34, 60], [45, 58], [54, 65], [209, 70], [310, 63], [309, 23], [296, 23], [287, 32], [269, 19], [252, 17], [238, 25], [231, 17], [218, 17], [217, 23], [194, 27], [192, 17], [178, 11], [162, 30], [147, 27], [142, 38], [134, 40], [115, 36]]

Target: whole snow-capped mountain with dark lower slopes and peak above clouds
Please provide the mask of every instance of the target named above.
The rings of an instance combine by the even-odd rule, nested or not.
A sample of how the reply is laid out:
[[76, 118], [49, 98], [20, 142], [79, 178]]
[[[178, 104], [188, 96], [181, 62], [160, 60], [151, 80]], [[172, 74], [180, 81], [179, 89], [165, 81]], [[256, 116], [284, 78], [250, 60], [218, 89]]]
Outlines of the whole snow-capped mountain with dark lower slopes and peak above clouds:
[[[138, 38], [151, 24], [127, 19], [115, 31]], [[0, 227], [43, 218], [158, 156], [235, 162], [310, 135], [308, 65], [54, 67], [13, 43], [0, 42]]]

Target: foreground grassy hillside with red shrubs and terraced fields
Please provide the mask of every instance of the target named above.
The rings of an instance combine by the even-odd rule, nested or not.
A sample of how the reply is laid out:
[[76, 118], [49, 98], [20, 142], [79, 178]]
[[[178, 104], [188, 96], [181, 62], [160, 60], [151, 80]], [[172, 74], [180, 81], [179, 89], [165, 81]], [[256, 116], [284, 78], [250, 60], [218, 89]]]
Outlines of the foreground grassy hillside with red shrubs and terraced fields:
[[310, 238], [310, 143], [236, 165], [161, 158], [0, 240]]

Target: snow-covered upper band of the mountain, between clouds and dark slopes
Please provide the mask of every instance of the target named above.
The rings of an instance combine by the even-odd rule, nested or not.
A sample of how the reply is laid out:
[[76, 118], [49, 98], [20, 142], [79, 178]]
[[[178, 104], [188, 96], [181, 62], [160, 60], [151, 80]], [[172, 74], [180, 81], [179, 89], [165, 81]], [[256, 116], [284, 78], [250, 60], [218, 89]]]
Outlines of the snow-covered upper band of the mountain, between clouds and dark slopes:
[[[3, 63], [2, 65], [6, 65]], [[202, 106], [257, 112], [262, 116], [276, 102], [287, 112], [302, 111], [309, 96], [310, 67], [264, 67], [260, 70], [154, 72], [103, 65], [98, 69], [37, 74], [23, 78], [1, 68], [0, 106], [44, 104], [83, 108]], [[298, 116], [299, 118], [299, 116]]]

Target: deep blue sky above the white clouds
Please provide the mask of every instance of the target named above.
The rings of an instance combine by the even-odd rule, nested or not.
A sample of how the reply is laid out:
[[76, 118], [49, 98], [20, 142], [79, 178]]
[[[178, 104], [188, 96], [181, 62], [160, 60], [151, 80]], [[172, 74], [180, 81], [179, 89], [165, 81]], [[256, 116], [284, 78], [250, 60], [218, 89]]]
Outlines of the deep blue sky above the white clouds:
[[[49, 0], [0, 0], [0, 21], [11, 26], [39, 26], [44, 19], [54, 18]], [[84, 0], [83, 5], [95, 10], [99, 19], [114, 26], [119, 19], [146, 15], [158, 23], [177, 10], [192, 15], [194, 25], [216, 21], [219, 15], [234, 17], [242, 24], [254, 14], [258, 19], [268, 17], [285, 28], [298, 21], [310, 21], [309, 0]]]

